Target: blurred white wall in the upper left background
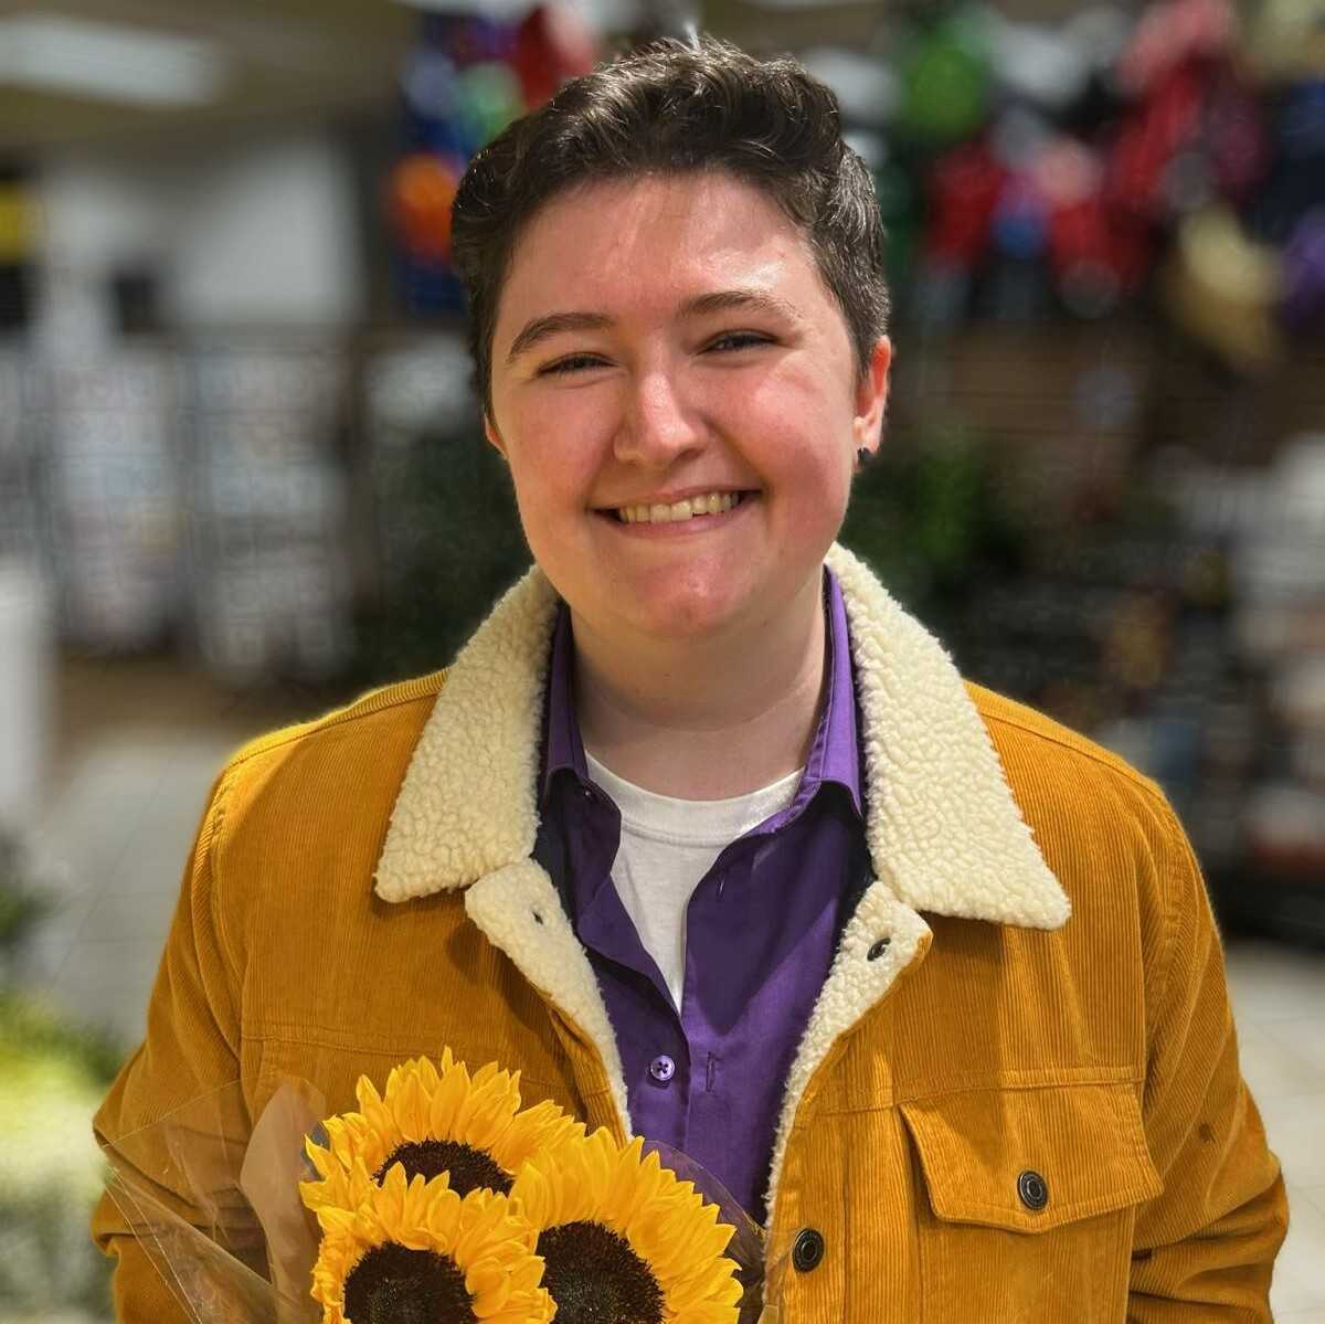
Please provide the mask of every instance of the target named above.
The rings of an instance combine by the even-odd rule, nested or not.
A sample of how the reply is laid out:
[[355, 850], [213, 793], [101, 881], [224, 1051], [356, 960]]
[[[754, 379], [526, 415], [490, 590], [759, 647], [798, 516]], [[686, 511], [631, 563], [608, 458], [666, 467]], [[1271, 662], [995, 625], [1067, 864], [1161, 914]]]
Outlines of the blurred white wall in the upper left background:
[[360, 315], [364, 272], [347, 162], [315, 131], [186, 151], [66, 151], [42, 163], [37, 334], [58, 354], [109, 337], [106, 278], [155, 268], [171, 322], [335, 329]]

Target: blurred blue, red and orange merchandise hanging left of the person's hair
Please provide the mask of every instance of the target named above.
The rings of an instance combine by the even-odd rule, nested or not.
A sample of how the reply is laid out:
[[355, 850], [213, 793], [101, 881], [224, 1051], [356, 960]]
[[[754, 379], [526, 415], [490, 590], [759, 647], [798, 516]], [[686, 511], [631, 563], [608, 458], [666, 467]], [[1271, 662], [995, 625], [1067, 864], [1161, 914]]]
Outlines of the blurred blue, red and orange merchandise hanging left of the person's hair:
[[425, 13], [400, 76], [404, 150], [387, 212], [405, 311], [457, 311], [449, 266], [450, 204], [469, 159], [513, 119], [592, 68], [596, 49], [579, 11], [541, 4], [518, 21]]

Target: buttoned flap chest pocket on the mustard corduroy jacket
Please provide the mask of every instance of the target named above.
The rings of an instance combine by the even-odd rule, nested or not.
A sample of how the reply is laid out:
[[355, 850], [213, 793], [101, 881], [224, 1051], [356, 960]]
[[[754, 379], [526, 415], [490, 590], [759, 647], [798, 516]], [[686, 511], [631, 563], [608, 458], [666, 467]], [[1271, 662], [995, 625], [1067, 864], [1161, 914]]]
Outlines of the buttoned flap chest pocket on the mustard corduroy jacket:
[[1136, 1209], [1162, 1190], [1130, 1084], [975, 1089], [900, 1111], [921, 1319], [1120, 1324]]

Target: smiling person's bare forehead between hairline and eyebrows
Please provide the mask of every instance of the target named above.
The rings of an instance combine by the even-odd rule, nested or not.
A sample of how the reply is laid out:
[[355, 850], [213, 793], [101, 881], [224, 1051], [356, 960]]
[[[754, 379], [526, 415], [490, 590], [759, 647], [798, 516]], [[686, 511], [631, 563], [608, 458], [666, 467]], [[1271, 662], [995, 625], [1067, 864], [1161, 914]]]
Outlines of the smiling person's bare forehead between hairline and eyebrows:
[[[550, 311], [665, 311], [706, 288], [827, 298], [810, 243], [766, 193], [725, 172], [584, 184], [542, 207], [511, 254], [496, 339]], [[815, 307], [806, 307], [814, 313]]]

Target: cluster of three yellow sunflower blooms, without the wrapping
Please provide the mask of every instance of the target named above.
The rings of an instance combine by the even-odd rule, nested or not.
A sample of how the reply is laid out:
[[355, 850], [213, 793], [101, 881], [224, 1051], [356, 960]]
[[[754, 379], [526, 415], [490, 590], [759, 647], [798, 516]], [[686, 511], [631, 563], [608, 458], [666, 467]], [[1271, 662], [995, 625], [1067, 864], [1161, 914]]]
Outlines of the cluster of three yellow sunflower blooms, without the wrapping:
[[586, 1134], [519, 1079], [444, 1052], [309, 1141], [323, 1324], [735, 1324], [734, 1229], [643, 1141]]

